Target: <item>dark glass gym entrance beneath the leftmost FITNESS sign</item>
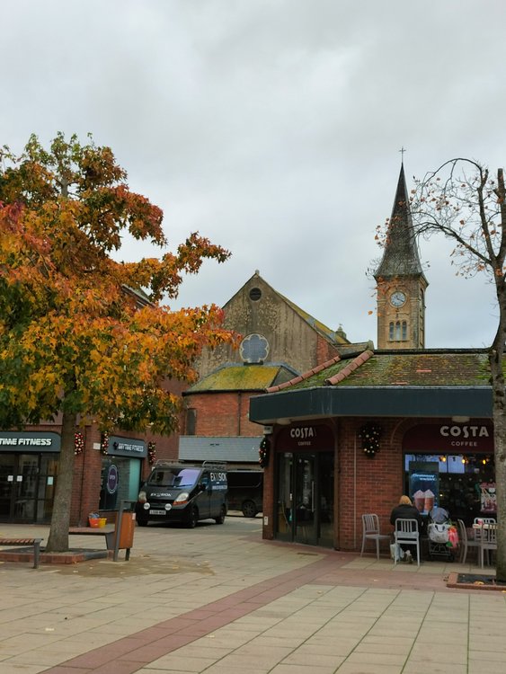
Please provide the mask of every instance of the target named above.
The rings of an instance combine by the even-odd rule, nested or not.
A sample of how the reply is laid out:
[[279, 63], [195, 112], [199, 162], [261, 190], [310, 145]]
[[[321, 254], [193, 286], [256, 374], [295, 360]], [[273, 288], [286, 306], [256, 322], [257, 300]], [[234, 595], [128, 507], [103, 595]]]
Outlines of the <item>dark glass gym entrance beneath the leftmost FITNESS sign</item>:
[[58, 454], [0, 454], [0, 521], [49, 522]]

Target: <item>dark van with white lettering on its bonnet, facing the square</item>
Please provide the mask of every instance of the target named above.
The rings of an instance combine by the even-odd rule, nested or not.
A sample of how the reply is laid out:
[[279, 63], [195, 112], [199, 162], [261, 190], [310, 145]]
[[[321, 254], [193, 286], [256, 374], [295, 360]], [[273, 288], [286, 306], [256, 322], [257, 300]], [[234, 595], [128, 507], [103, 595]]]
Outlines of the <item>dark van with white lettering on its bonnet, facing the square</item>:
[[157, 461], [138, 493], [138, 524], [180, 522], [194, 528], [201, 519], [223, 524], [226, 490], [225, 464]]

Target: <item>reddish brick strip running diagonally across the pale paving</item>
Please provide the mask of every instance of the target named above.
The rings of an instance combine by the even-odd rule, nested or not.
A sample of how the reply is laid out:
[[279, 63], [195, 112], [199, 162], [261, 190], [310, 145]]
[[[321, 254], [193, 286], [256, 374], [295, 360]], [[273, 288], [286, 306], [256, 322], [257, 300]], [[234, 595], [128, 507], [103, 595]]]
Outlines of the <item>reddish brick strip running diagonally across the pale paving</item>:
[[[325, 556], [304, 568], [256, 583], [182, 616], [164, 620], [154, 627], [78, 655], [44, 670], [44, 674], [131, 674], [237, 618], [247, 616], [271, 601], [280, 599], [302, 585], [332, 573], [336, 563], [333, 555]], [[356, 582], [356, 574], [352, 575]]]

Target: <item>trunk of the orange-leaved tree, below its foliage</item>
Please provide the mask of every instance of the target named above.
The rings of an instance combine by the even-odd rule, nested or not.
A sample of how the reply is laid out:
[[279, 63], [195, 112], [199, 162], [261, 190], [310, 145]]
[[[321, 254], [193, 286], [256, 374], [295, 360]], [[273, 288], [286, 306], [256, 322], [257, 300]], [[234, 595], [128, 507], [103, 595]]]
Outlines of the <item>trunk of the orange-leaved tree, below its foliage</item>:
[[58, 479], [46, 552], [65, 553], [68, 550], [68, 526], [74, 479], [75, 414], [63, 413]]

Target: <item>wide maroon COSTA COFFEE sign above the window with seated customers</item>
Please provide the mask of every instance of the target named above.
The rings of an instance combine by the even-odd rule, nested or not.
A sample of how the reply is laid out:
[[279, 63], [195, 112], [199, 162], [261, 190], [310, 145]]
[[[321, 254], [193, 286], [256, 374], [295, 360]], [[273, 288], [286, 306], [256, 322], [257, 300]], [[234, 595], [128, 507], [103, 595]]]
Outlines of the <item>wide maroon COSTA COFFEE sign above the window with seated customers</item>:
[[403, 440], [404, 451], [493, 452], [493, 426], [488, 423], [443, 423], [415, 426]]

